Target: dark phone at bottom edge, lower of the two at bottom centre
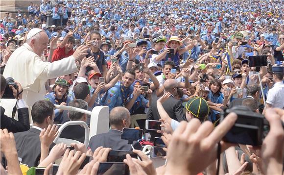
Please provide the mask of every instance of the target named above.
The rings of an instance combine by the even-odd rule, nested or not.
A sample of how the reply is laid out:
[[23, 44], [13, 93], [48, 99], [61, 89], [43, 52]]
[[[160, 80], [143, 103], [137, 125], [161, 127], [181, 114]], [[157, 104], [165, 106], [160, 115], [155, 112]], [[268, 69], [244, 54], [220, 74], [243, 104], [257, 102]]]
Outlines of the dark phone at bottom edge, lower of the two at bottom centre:
[[129, 175], [129, 167], [123, 162], [99, 163], [97, 175]]

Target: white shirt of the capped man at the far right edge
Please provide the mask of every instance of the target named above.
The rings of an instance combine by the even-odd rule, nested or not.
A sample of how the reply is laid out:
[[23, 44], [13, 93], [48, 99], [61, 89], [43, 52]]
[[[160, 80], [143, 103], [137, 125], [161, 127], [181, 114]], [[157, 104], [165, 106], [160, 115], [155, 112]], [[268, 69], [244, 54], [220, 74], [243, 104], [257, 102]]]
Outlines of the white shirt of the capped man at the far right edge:
[[272, 107], [284, 109], [284, 83], [283, 81], [277, 82], [268, 91], [266, 103], [271, 104]]

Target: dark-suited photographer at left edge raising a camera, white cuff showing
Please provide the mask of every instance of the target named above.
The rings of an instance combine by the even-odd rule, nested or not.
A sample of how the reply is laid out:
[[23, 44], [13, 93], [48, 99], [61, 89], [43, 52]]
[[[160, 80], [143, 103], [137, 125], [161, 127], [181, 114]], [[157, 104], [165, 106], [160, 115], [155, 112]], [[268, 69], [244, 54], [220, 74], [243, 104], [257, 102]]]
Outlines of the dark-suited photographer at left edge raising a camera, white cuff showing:
[[[3, 75], [0, 75], [0, 99], [4, 95], [6, 87], [6, 79]], [[13, 91], [14, 97], [18, 100], [17, 108], [18, 108], [18, 121], [8, 117], [4, 114], [5, 109], [0, 106], [0, 124], [1, 129], [8, 129], [8, 132], [22, 132], [27, 131], [29, 129], [29, 117], [28, 117], [28, 108], [23, 100], [23, 88], [20, 83], [15, 82], [18, 86], [18, 89], [15, 89], [13, 85], [9, 85], [9, 88]]]

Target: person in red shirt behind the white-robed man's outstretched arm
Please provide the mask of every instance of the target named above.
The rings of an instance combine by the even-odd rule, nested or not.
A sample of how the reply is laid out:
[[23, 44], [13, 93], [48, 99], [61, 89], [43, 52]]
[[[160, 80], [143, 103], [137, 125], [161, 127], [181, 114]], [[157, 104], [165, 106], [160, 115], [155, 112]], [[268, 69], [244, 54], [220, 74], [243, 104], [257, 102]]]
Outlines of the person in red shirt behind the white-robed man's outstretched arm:
[[74, 53], [74, 44], [75, 39], [73, 37], [73, 33], [69, 32], [63, 39], [63, 41], [59, 44], [57, 49], [54, 50], [52, 55], [52, 62], [71, 56]]

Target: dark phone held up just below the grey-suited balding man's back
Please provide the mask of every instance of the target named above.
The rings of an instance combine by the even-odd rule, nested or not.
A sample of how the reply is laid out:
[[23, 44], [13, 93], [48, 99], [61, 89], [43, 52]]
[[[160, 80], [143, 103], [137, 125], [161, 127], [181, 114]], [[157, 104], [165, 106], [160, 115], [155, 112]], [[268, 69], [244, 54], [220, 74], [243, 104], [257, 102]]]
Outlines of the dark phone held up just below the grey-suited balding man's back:
[[133, 151], [111, 150], [107, 156], [107, 162], [123, 162], [126, 159], [126, 154], [129, 154], [132, 158], [137, 158], [138, 156]]

